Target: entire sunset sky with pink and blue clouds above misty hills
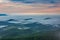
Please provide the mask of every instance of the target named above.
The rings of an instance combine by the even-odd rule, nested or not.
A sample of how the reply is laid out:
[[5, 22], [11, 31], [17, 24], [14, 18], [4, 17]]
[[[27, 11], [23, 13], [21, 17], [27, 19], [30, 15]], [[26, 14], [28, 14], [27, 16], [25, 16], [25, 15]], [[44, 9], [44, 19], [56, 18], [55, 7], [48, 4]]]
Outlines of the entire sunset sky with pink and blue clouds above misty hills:
[[60, 14], [60, 0], [0, 0], [0, 13]]

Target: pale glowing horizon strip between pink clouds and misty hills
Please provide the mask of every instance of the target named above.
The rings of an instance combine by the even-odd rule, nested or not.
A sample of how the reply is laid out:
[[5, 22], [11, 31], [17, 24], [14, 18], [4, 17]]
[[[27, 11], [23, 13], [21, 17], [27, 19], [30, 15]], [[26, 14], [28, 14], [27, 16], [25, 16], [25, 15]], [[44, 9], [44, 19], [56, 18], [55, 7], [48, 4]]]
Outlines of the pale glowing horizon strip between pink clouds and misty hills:
[[0, 13], [7, 15], [60, 15], [59, 13]]

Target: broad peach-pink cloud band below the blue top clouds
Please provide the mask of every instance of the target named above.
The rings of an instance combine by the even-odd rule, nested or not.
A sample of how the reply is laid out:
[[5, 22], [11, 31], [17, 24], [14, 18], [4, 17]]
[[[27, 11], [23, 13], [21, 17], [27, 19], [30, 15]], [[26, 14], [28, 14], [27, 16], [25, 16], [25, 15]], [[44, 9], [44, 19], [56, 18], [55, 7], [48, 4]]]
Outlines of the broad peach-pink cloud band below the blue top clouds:
[[0, 13], [60, 13], [60, 4], [0, 4]]

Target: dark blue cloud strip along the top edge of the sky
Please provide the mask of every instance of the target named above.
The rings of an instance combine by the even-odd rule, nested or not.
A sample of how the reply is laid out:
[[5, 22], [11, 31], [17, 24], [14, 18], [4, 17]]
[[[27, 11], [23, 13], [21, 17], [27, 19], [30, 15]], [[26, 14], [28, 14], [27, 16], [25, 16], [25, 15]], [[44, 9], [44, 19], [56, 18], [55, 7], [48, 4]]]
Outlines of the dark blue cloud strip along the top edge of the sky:
[[60, 0], [11, 0], [12, 2], [23, 2], [23, 3], [58, 3]]

